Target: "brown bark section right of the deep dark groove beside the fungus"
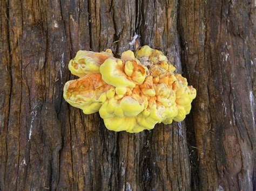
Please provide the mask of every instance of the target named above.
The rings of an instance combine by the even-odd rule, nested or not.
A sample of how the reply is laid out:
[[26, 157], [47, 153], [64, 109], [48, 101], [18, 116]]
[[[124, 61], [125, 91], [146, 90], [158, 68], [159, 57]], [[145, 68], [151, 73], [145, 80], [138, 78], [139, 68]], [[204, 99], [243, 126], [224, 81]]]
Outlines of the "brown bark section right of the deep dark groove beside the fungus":
[[202, 190], [253, 189], [254, 6], [253, 1], [180, 1], [183, 69], [198, 90], [189, 121]]

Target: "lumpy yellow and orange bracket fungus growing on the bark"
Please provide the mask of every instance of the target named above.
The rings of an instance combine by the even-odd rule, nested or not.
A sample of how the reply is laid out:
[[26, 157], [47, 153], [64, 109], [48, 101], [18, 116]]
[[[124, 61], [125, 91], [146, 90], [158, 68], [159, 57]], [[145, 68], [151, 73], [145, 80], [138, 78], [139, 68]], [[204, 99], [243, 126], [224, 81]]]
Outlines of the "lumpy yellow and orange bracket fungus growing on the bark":
[[173, 73], [166, 56], [149, 46], [136, 56], [126, 51], [121, 59], [110, 49], [78, 51], [69, 69], [80, 78], [66, 82], [65, 100], [84, 114], [99, 111], [112, 131], [140, 132], [157, 123], [183, 121], [196, 97], [196, 89]]

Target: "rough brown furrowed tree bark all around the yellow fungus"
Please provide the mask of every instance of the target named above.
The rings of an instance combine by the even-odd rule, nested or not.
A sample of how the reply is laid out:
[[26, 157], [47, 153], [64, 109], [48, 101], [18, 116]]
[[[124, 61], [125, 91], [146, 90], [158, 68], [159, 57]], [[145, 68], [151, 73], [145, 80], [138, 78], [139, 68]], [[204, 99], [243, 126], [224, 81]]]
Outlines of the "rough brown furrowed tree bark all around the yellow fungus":
[[[253, 190], [253, 1], [0, 6], [0, 190]], [[186, 126], [116, 133], [98, 114], [64, 102], [79, 49], [120, 55], [136, 34], [169, 55], [178, 73], [182, 51], [198, 90]]]

